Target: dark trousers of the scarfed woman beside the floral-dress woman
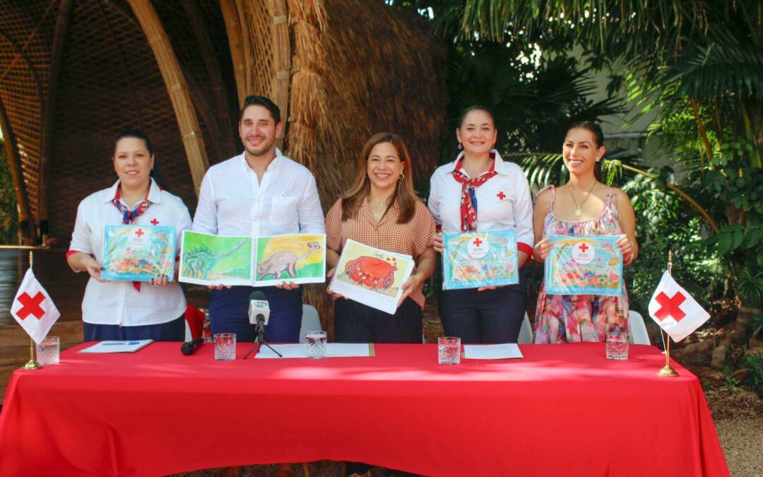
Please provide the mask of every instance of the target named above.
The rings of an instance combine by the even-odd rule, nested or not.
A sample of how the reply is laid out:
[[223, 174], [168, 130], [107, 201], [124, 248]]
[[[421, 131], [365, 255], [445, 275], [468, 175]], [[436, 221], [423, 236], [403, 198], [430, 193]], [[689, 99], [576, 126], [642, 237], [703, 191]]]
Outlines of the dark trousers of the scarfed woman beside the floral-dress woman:
[[461, 343], [517, 343], [525, 314], [527, 269], [520, 282], [494, 290], [443, 290], [437, 296], [445, 334]]

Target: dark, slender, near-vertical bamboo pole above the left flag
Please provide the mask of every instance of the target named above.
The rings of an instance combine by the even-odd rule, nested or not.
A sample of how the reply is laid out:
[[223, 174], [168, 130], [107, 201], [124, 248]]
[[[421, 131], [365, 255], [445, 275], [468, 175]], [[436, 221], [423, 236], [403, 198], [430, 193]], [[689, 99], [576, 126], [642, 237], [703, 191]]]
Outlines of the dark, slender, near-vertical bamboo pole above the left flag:
[[50, 143], [53, 140], [53, 121], [56, 117], [56, 93], [58, 76], [61, 69], [63, 45], [66, 40], [66, 30], [69, 27], [69, 14], [74, 0], [62, 0], [56, 18], [56, 31], [53, 34], [53, 52], [50, 56], [50, 75], [48, 76], [48, 94], [45, 101], [45, 116], [43, 120], [43, 140], [40, 145], [40, 181], [37, 185], [37, 223], [40, 224], [40, 235], [43, 245], [47, 243], [48, 222], [48, 185], [50, 182]]

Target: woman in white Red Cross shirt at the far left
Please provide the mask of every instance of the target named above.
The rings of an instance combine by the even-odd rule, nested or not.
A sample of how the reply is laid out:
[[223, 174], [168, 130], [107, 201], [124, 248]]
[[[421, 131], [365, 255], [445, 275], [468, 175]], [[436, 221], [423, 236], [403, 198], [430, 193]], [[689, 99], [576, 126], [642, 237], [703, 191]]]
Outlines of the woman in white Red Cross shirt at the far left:
[[101, 263], [106, 225], [175, 227], [177, 255], [182, 231], [191, 228], [188, 208], [151, 177], [153, 150], [143, 132], [119, 134], [114, 140], [112, 162], [117, 182], [79, 203], [66, 253], [66, 261], [75, 272], [90, 275], [82, 299], [84, 339], [182, 341], [185, 296], [177, 279], [156, 276], [150, 282], [108, 281], [101, 279]]

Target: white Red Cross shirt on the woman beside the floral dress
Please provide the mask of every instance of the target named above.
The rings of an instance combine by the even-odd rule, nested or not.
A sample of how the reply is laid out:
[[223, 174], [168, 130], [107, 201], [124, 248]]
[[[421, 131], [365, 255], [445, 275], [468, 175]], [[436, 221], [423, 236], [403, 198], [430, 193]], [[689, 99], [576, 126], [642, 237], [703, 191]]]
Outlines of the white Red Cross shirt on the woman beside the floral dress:
[[[496, 150], [491, 153], [495, 153], [497, 175], [475, 188], [477, 230], [514, 230], [517, 248], [530, 255], [535, 244], [530, 184], [520, 166], [504, 162]], [[452, 163], [439, 166], [430, 179], [427, 204], [435, 223], [442, 225], [443, 234], [461, 233], [462, 183], [453, 177], [453, 170], [463, 154]], [[460, 170], [468, 177], [463, 168]]]

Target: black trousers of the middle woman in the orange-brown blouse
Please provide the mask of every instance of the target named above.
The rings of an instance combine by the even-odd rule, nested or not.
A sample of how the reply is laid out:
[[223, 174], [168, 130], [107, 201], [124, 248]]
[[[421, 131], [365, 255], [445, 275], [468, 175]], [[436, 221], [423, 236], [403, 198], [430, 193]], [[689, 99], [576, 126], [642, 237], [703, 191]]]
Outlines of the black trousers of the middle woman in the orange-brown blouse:
[[334, 301], [337, 343], [421, 343], [421, 331], [421, 308], [410, 298], [394, 314], [344, 298]]

